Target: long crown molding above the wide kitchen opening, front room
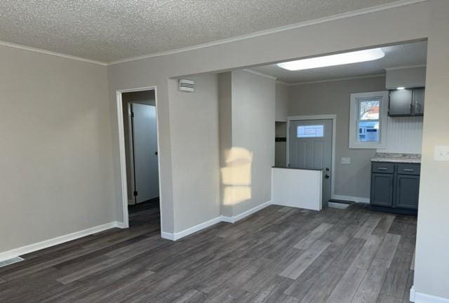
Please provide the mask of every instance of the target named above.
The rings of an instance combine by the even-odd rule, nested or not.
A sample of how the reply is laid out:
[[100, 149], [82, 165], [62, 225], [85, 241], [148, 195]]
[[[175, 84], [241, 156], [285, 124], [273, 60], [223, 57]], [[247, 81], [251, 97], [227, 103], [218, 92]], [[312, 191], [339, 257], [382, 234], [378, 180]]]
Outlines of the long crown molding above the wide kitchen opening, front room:
[[398, 8], [398, 7], [401, 7], [401, 6], [408, 6], [410, 4], [418, 4], [418, 3], [421, 3], [421, 2], [425, 2], [425, 1], [427, 1], [427, 0], [399, 0], [399, 1], [394, 1], [394, 2], [391, 2], [389, 4], [381, 4], [379, 6], [373, 6], [373, 7], [370, 7], [370, 8], [362, 8], [362, 9], [358, 9], [356, 11], [351, 11], [351, 12], [347, 12], [347, 13], [340, 13], [340, 14], [331, 15], [331, 16], [328, 16], [328, 17], [323, 17], [323, 18], [318, 18], [318, 19], [314, 19], [314, 20], [294, 23], [294, 24], [291, 24], [291, 25], [285, 25], [285, 26], [282, 26], [282, 27], [274, 27], [272, 29], [265, 29], [265, 30], [262, 30], [262, 31], [253, 32], [251, 34], [244, 34], [244, 35], [240, 35], [240, 36], [234, 36], [234, 37], [228, 38], [228, 39], [221, 39], [221, 40], [211, 41], [211, 42], [207, 42], [207, 43], [201, 43], [201, 44], [198, 44], [196, 46], [187, 46], [185, 48], [177, 48], [175, 50], [167, 50], [167, 51], [161, 51], [161, 52], [157, 52], [157, 53], [150, 53], [150, 54], [147, 54], [147, 55], [140, 55], [140, 56], [124, 58], [124, 59], [120, 59], [120, 60], [115, 60], [115, 61], [107, 62], [107, 65], [116, 65], [116, 64], [119, 64], [119, 63], [123, 63], [123, 62], [129, 62], [129, 61], [135, 61], [135, 60], [141, 60], [141, 59], [147, 59], [147, 58], [154, 58], [154, 57], [161, 57], [161, 56], [164, 56], [164, 55], [173, 55], [173, 54], [176, 54], [176, 53], [184, 53], [184, 52], [187, 52], [189, 50], [197, 50], [197, 49], [201, 49], [201, 48], [208, 48], [210, 46], [217, 46], [217, 45], [220, 45], [220, 44], [241, 41], [241, 40], [245, 40], [245, 39], [255, 38], [257, 36], [265, 36], [265, 35], [268, 35], [268, 34], [276, 34], [278, 32], [286, 32], [286, 31], [291, 30], [291, 29], [298, 29], [298, 28], [301, 28], [301, 27], [308, 27], [308, 26], [311, 26], [311, 25], [318, 25], [318, 24], [326, 23], [326, 22], [330, 22], [330, 21], [356, 17], [358, 15], [367, 15], [369, 13], [375, 13], [375, 12], [378, 12], [378, 11], [386, 11], [386, 10], [389, 10], [391, 8]]

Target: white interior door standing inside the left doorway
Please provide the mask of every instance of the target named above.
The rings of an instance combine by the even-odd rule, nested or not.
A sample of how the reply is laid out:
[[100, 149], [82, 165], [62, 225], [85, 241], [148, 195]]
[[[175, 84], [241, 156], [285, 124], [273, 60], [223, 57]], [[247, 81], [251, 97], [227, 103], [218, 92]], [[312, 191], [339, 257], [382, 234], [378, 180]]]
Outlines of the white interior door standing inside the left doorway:
[[156, 107], [131, 104], [136, 203], [159, 196]]

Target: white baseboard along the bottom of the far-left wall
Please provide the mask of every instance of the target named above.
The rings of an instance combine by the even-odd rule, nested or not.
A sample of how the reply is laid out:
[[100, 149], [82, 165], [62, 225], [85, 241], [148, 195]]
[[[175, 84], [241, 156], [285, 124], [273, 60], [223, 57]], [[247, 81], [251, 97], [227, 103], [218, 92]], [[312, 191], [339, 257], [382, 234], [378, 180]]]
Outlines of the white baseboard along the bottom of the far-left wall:
[[51, 246], [54, 246], [54, 245], [58, 245], [58, 244], [61, 244], [61, 243], [72, 241], [72, 240], [75, 240], [77, 238], [82, 238], [83, 236], [96, 234], [96, 233], [98, 233], [100, 231], [105, 231], [107, 229], [112, 229], [114, 227], [123, 228], [123, 223], [122, 222], [116, 222], [116, 221], [109, 222], [109, 223], [106, 223], [106, 224], [98, 225], [96, 227], [83, 229], [81, 231], [75, 231], [72, 234], [66, 234], [64, 236], [58, 236], [56, 238], [51, 238], [51, 239], [44, 240], [44, 241], [41, 241], [41, 242], [25, 245], [25, 246], [22, 246], [20, 248], [14, 248], [12, 250], [6, 250], [5, 252], [0, 253], [0, 261], [8, 260], [8, 259], [11, 259], [13, 257], [18, 257], [20, 255], [26, 255], [28, 253], [33, 253], [33, 252], [35, 252], [37, 250], [41, 250], [43, 248], [48, 248], [48, 247], [51, 247]]

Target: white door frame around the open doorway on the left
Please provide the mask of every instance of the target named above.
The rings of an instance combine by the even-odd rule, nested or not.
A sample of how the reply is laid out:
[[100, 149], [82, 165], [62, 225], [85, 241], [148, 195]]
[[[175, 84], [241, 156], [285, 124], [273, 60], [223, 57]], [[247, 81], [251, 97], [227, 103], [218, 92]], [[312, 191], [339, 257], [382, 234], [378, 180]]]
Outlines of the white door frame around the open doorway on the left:
[[120, 180], [121, 180], [121, 204], [123, 213], [123, 225], [121, 228], [129, 227], [128, 217], [128, 180], [126, 177], [126, 148], [125, 148], [125, 130], [123, 128], [123, 93], [133, 93], [144, 90], [154, 90], [154, 107], [156, 107], [156, 132], [157, 132], [157, 149], [158, 149], [158, 178], [159, 178], [159, 209], [161, 210], [161, 231], [162, 231], [162, 194], [161, 194], [161, 153], [160, 151], [160, 132], [159, 132], [159, 115], [157, 111], [157, 90], [156, 86], [147, 86], [142, 88], [128, 88], [116, 90], [116, 106], [117, 106], [117, 123], [119, 126], [119, 159], [120, 159]]

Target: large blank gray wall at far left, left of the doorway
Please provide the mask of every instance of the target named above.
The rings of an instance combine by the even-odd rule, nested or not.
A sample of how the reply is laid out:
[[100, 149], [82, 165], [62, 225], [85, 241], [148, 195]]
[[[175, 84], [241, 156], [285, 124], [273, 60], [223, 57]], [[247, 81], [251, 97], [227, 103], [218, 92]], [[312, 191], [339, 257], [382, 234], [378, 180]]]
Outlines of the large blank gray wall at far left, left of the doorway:
[[0, 46], [0, 252], [116, 220], [106, 67]]

